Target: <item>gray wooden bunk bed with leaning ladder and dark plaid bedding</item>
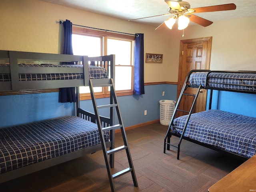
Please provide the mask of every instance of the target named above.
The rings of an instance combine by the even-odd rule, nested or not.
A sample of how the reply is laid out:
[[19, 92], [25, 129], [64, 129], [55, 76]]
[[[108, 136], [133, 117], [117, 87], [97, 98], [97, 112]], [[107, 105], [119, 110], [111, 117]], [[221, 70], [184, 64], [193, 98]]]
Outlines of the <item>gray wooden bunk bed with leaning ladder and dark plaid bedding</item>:
[[[0, 91], [76, 87], [77, 97], [76, 116], [0, 129], [0, 183], [103, 150], [111, 190], [115, 190], [113, 178], [127, 172], [132, 173], [134, 186], [138, 186], [122, 119], [119, 118], [114, 90], [114, 55], [89, 58], [0, 51], [0, 61]], [[20, 63], [24, 61], [25, 64]], [[100, 106], [96, 106], [93, 84], [111, 86], [109, 117], [100, 116], [98, 112]], [[95, 114], [80, 108], [79, 86], [90, 86]], [[114, 109], [118, 111], [121, 126], [113, 125]], [[122, 131], [123, 148], [130, 168], [112, 175], [110, 168], [114, 167], [114, 153], [123, 149], [114, 148], [114, 130], [117, 128]]]

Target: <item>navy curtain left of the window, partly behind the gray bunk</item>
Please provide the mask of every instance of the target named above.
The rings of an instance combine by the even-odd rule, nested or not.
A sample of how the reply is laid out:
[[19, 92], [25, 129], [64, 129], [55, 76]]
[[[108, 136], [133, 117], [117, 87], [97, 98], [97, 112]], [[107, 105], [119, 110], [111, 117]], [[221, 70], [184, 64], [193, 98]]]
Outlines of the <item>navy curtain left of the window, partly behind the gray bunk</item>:
[[[72, 23], [70, 20], [63, 22], [64, 26], [64, 49], [63, 54], [73, 55], [72, 48]], [[74, 63], [64, 63], [64, 64], [74, 64]], [[60, 88], [60, 102], [76, 102], [76, 88]]]

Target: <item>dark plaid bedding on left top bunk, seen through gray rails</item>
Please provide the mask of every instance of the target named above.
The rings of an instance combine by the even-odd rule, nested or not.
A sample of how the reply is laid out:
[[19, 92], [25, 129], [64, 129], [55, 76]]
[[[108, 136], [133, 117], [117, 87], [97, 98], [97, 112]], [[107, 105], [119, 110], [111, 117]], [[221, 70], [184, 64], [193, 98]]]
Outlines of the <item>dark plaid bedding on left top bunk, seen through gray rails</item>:
[[[9, 66], [0, 64], [0, 66]], [[83, 65], [51, 65], [51, 64], [18, 64], [22, 67], [83, 67]], [[56, 73], [56, 74], [19, 74], [20, 81], [38, 81], [38, 80], [69, 80], [83, 79], [82, 73]], [[89, 78], [108, 78], [105, 68], [98, 66], [89, 66]], [[11, 81], [11, 74], [0, 74], [0, 81]]]

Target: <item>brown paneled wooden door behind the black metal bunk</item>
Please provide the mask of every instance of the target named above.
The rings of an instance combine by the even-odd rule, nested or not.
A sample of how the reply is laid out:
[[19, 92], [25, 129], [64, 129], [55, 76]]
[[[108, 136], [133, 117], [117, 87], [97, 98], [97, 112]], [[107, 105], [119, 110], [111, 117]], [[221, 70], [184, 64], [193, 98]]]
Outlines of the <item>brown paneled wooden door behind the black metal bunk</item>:
[[[181, 40], [177, 100], [180, 96], [180, 91], [184, 84], [184, 80], [186, 79], [186, 76], [190, 70], [210, 68], [211, 47], [212, 37]], [[186, 93], [195, 94], [196, 89], [188, 88]], [[206, 109], [206, 96], [207, 90], [202, 89], [193, 112], [201, 112]], [[194, 97], [192, 96], [183, 96], [179, 108], [181, 110], [190, 111], [193, 100]], [[185, 114], [187, 113], [178, 112], [176, 117]]]

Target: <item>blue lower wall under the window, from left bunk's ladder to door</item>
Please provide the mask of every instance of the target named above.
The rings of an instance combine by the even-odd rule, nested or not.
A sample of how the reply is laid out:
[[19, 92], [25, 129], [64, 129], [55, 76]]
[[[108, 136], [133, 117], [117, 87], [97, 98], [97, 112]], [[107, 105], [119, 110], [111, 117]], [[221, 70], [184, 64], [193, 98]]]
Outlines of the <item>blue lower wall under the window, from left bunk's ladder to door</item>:
[[[162, 96], [162, 92], [165, 95]], [[143, 95], [129, 95], [118, 97], [118, 104], [120, 106], [121, 116], [124, 126], [133, 126], [144, 122], [149, 122], [159, 119], [159, 101], [163, 99], [176, 100], [177, 86], [170, 84], [148, 85], [145, 86], [145, 94]], [[97, 105], [109, 103], [109, 98], [98, 99]], [[93, 112], [91, 100], [81, 101], [82, 109]], [[147, 115], [144, 115], [144, 110], [147, 110]], [[108, 113], [100, 112], [105, 116]]]

